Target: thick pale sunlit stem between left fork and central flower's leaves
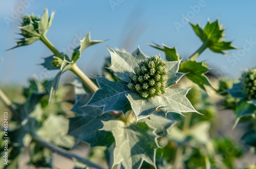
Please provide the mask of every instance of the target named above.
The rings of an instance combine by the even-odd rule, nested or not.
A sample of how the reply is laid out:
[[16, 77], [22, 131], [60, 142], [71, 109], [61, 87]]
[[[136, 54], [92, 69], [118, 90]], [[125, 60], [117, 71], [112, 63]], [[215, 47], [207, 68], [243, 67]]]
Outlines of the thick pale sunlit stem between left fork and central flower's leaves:
[[94, 93], [99, 88], [96, 86], [96, 84], [91, 81], [90, 78], [88, 78], [82, 70], [76, 65], [76, 63], [72, 64], [72, 67], [70, 70]]

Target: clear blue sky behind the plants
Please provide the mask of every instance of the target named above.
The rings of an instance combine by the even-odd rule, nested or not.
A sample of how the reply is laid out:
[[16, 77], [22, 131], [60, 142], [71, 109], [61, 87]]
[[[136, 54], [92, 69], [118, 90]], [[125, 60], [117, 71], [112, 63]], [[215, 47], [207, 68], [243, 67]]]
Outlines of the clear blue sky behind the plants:
[[[26, 2], [26, 3], [24, 3]], [[92, 39], [106, 42], [93, 45], [82, 53], [78, 66], [87, 74], [100, 72], [104, 57], [112, 48], [125, 48], [127, 52], [136, 50], [138, 44], [147, 55], [159, 51], [144, 44], [152, 41], [168, 46], [177, 46], [181, 57], [188, 57], [202, 44], [183, 16], [205, 26], [207, 19], [220, 23], [226, 28], [225, 40], [233, 41], [240, 50], [229, 51], [226, 56], [205, 51], [199, 61], [207, 60], [209, 67], [215, 68], [222, 76], [236, 77], [240, 70], [255, 67], [256, 63], [256, 10], [252, 1], [0, 1], [0, 83], [25, 83], [36, 74], [39, 78], [52, 78], [56, 72], [47, 72], [37, 65], [42, 57], [51, 52], [40, 41], [31, 45], [5, 51], [15, 45], [20, 38], [20, 17], [23, 14], [40, 14], [46, 6], [55, 10], [52, 27], [47, 33], [50, 41], [62, 52], [69, 52], [77, 38], [83, 38], [91, 29]], [[16, 16], [17, 14], [18, 16]], [[9, 22], [8, 22], [9, 21]], [[175, 24], [180, 24], [179, 29]], [[73, 45], [74, 46], [74, 45]], [[66, 77], [72, 75], [65, 73]], [[65, 79], [62, 78], [62, 80]]]

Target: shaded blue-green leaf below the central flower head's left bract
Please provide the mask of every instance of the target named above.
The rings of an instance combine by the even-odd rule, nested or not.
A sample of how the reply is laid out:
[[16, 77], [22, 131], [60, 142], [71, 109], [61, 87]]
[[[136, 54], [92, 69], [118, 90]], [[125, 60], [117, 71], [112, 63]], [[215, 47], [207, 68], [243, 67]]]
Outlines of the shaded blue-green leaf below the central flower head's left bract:
[[[75, 87], [76, 88], [76, 87]], [[79, 95], [78, 95], [79, 96]], [[80, 141], [85, 141], [94, 146], [110, 147], [114, 142], [114, 138], [110, 132], [99, 131], [103, 127], [102, 121], [114, 118], [111, 113], [102, 114], [102, 108], [98, 107], [82, 107], [91, 98], [89, 94], [79, 96], [71, 111], [76, 115], [69, 118], [69, 135]]]

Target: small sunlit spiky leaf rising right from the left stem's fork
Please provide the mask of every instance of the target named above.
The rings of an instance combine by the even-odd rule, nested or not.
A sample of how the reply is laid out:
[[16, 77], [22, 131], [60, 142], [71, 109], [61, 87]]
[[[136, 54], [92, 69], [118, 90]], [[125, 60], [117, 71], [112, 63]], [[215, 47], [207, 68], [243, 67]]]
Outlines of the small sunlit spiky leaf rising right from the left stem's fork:
[[87, 47], [89, 47], [93, 44], [96, 44], [96, 43], [104, 42], [104, 41], [106, 41], [106, 40], [91, 40], [91, 31], [89, 31], [89, 33], [86, 35], [86, 37], [84, 37], [82, 40], [80, 40], [80, 46], [78, 46], [74, 50], [74, 53], [72, 55], [72, 61], [76, 62], [81, 57], [82, 51], [87, 49]]

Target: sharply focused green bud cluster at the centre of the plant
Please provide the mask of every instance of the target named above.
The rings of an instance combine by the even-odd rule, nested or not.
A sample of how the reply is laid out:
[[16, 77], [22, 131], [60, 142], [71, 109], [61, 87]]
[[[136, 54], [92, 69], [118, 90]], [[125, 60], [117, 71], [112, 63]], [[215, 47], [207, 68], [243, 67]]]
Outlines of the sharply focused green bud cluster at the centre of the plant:
[[157, 55], [140, 61], [134, 68], [135, 74], [130, 76], [128, 87], [143, 98], [165, 93], [168, 79], [165, 65], [166, 62]]

